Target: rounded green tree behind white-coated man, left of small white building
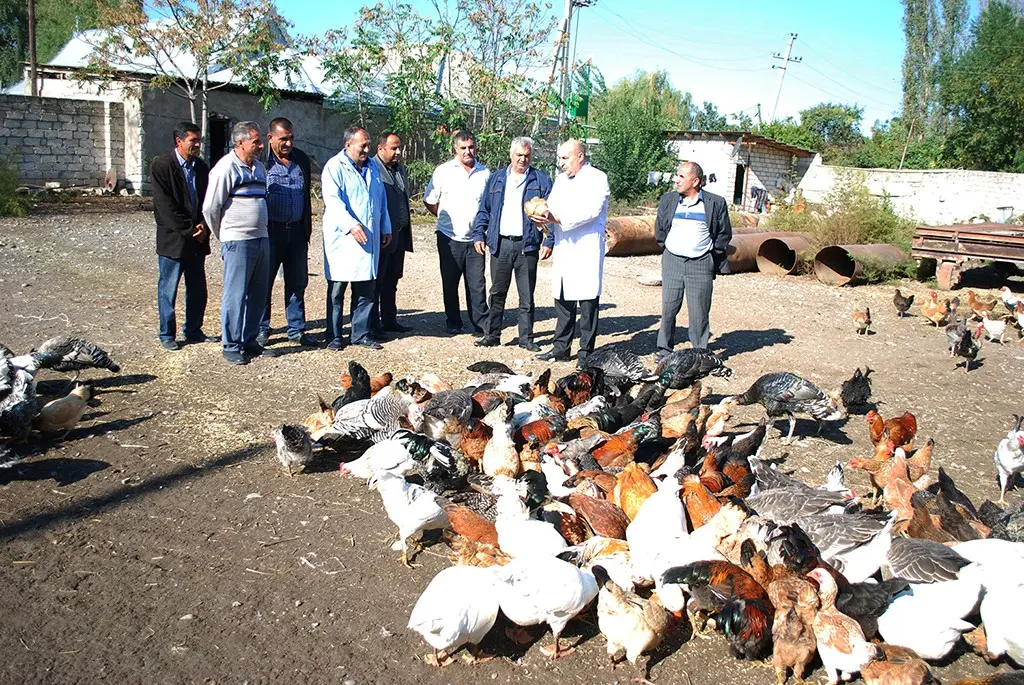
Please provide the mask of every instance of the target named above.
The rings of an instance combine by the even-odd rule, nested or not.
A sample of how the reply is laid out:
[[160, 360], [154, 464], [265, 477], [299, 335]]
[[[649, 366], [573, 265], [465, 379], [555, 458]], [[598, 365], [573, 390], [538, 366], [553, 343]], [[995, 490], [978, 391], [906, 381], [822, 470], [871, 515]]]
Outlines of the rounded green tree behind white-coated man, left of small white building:
[[677, 160], [669, 149], [665, 122], [639, 101], [616, 99], [595, 115], [594, 164], [608, 175], [611, 197], [639, 199], [650, 192], [648, 172], [672, 171]]

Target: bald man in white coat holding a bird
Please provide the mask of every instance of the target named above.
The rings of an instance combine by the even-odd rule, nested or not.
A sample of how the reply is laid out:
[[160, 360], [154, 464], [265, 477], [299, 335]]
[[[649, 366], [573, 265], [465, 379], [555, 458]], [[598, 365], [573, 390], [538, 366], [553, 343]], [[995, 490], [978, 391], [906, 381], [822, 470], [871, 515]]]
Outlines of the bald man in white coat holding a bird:
[[558, 146], [558, 166], [562, 173], [551, 188], [547, 214], [530, 217], [536, 223], [549, 226], [555, 237], [551, 274], [557, 315], [555, 340], [551, 350], [537, 358], [568, 360], [579, 308], [577, 367], [582, 369], [587, 366], [587, 355], [594, 351], [597, 340], [608, 177], [587, 162], [587, 145], [581, 140], [566, 140]]

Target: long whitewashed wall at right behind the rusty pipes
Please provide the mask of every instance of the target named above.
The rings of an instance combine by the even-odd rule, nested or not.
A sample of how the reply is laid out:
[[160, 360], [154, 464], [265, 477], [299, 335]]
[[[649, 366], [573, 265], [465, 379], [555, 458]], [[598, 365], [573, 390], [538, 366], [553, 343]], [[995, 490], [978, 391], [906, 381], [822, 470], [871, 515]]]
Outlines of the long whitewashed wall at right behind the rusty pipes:
[[871, 195], [888, 196], [901, 215], [931, 225], [1007, 221], [1024, 214], [1024, 174], [964, 169], [847, 169], [814, 165], [800, 188], [821, 202], [843, 174], [864, 179]]

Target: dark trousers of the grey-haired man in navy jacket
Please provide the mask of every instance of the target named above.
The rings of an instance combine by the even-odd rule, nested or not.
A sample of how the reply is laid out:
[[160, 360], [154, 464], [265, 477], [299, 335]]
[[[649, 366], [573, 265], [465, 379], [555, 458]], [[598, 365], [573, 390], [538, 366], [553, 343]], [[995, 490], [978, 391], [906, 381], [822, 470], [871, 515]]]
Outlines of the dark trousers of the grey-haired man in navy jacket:
[[490, 298], [487, 300], [487, 335], [500, 338], [512, 274], [519, 293], [519, 343], [534, 337], [534, 289], [537, 288], [538, 253], [522, 252], [522, 239], [502, 236], [498, 252], [490, 255]]

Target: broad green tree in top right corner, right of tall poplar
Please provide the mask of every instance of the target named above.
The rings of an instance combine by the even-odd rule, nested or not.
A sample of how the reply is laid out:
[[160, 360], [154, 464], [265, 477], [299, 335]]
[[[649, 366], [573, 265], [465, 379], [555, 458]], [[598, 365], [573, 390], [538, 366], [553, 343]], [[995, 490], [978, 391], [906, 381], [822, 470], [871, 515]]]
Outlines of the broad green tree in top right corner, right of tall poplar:
[[949, 161], [970, 169], [1024, 172], [1024, 10], [988, 2], [974, 42], [942, 73], [946, 111], [955, 120]]

